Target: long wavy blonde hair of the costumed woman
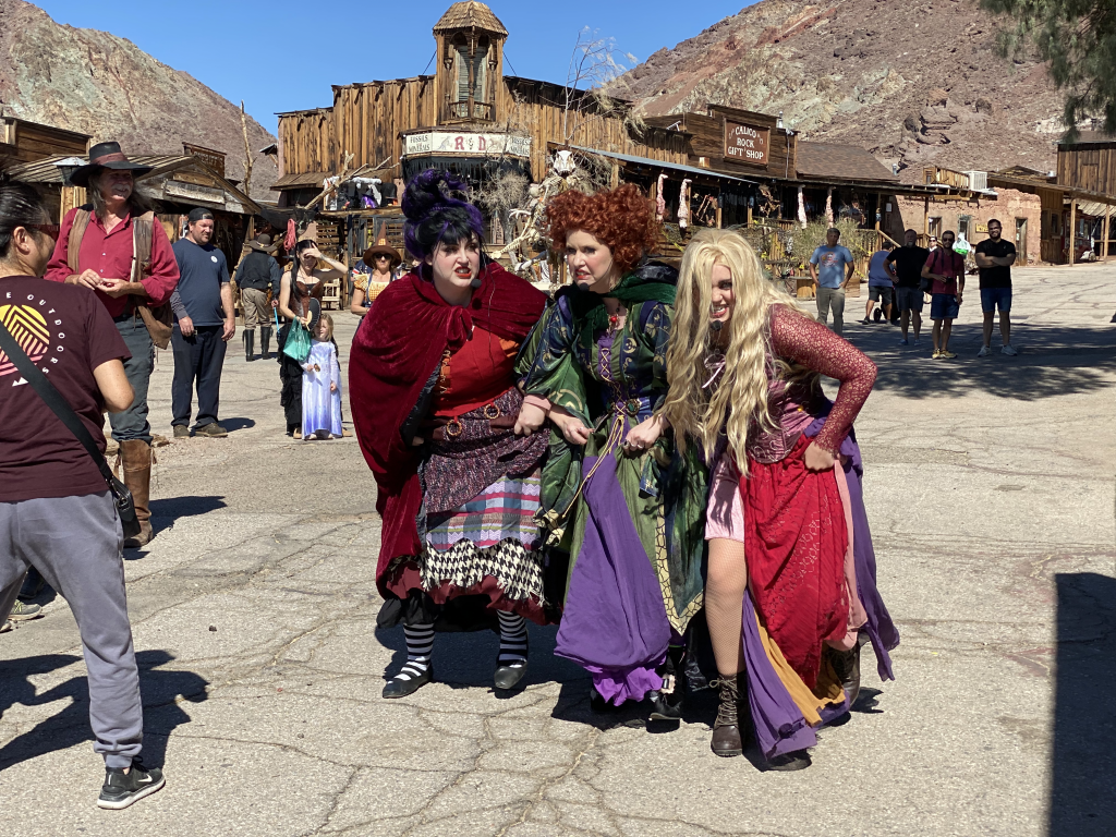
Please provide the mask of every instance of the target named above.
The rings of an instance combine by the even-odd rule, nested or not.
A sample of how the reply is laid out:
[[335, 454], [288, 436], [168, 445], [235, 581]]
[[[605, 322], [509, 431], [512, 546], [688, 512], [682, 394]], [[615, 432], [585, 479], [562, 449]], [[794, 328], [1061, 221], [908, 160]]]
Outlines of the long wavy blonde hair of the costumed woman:
[[[712, 307], [713, 267], [722, 264], [732, 273], [732, 316], [724, 325], [728, 348], [724, 371], [716, 386], [705, 388], [711, 372], [705, 365], [713, 346], [709, 326]], [[702, 230], [682, 256], [682, 272], [674, 300], [674, 321], [666, 352], [670, 389], [662, 413], [674, 427], [681, 450], [690, 441], [700, 442], [712, 456], [718, 435], [724, 427], [729, 449], [741, 472], [747, 472], [744, 446], [754, 421], [775, 429], [768, 412], [768, 357], [771, 346], [772, 305], [786, 305], [801, 312], [793, 297], [763, 276], [756, 252], [744, 239], [729, 230]], [[808, 378], [800, 367], [777, 364], [783, 377]]]

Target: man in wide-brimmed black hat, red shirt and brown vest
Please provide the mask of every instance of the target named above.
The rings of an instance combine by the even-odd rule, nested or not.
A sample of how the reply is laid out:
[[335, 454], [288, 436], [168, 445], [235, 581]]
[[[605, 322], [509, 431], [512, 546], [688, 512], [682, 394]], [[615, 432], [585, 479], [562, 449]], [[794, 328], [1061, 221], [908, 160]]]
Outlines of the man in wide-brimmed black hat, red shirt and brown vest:
[[[167, 302], [179, 282], [179, 266], [171, 242], [157, 220], [153, 222], [151, 262], [133, 269], [136, 258], [134, 222], [146, 211], [135, 194], [133, 177], [150, 171], [150, 166], [128, 162], [117, 143], [93, 146], [89, 163], [70, 175], [71, 183], [88, 190], [92, 208], [67, 213], [45, 277], [93, 289], [132, 355], [124, 363], [124, 372], [135, 391], [135, 400], [127, 410], [108, 414], [113, 439], [119, 443], [124, 482], [135, 499], [142, 526], [140, 535], [125, 542], [126, 547], [145, 546], [153, 537], [147, 504], [152, 459], [147, 385], [154, 368], [155, 348], [136, 306], [155, 308]], [[70, 267], [70, 233], [83, 209], [92, 211], [80, 241], [73, 242], [78, 248], [75, 270]]]

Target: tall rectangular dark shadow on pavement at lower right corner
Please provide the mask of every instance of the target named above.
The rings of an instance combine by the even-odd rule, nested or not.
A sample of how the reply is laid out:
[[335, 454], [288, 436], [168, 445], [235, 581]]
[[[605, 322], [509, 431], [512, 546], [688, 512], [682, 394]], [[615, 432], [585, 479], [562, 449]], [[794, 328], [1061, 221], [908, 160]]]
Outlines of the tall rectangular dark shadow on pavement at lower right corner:
[[1109, 837], [1116, 824], [1116, 578], [1055, 576], [1058, 646], [1050, 837]]

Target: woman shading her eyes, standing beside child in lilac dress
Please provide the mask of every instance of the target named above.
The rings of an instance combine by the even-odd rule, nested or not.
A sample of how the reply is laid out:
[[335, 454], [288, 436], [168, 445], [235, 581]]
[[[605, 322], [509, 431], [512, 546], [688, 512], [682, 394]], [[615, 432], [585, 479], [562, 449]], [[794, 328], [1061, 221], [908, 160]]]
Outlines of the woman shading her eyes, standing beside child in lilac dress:
[[[325, 262], [326, 268], [318, 264]], [[307, 330], [315, 318], [310, 300], [320, 300], [326, 282], [348, 275], [348, 269], [339, 261], [334, 261], [321, 254], [312, 239], [304, 239], [295, 247], [295, 259], [290, 270], [283, 272], [279, 285], [279, 314], [288, 323], [279, 331], [279, 379], [282, 391], [279, 403], [287, 416], [287, 435], [301, 439], [302, 432], [302, 360], [310, 350], [310, 334]], [[306, 352], [301, 357], [291, 357], [287, 353], [287, 340], [292, 339], [299, 346], [305, 343]], [[294, 353], [294, 347], [292, 347]]]

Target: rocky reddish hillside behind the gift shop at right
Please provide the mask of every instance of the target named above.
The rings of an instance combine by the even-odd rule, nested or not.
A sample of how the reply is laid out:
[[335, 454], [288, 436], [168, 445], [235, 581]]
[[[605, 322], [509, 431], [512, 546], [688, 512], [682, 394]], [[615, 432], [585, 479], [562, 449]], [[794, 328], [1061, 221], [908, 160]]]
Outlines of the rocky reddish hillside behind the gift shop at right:
[[625, 76], [652, 115], [708, 103], [783, 112], [808, 140], [860, 145], [901, 177], [1055, 167], [1061, 99], [1038, 60], [995, 55], [975, 0], [762, 0]]

